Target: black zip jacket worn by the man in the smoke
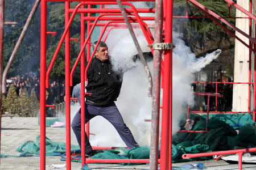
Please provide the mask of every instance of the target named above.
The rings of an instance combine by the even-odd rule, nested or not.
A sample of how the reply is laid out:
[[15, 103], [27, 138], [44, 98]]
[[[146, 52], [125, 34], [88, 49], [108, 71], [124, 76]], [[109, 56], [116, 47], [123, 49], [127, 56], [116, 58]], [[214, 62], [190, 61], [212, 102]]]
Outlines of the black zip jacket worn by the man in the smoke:
[[[153, 57], [151, 52], [143, 53], [143, 56], [147, 61], [152, 60]], [[137, 60], [138, 54], [133, 57], [134, 62]], [[109, 59], [101, 62], [100, 59], [94, 57], [88, 68], [87, 78], [86, 92], [92, 93], [92, 95], [85, 95], [86, 101], [98, 107], [104, 107], [117, 100], [122, 86], [123, 71], [120, 70], [118, 73], [113, 71]], [[77, 83], [73, 83], [73, 86]]]

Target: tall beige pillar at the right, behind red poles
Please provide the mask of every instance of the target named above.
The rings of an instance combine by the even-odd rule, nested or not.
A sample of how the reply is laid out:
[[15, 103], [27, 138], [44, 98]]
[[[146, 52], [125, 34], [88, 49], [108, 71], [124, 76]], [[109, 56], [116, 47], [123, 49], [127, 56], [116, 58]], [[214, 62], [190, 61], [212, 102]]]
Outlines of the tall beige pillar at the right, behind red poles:
[[[249, 1], [237, 0], [237, 4], [249, 10]], [[236, 11], [236, 16], [246, 16], [241, 11]], [[249, 19], [236, 19], [236, 27], [249, 34]], [[249, 44], [246, 37], [236, 31], [236, 35]], [[249, 82], [249, 49], [240, 41], [235, 41], [234, 54], [234, 82]], [[248, 111], [248, 85], [234, 84], [233, 111]]]

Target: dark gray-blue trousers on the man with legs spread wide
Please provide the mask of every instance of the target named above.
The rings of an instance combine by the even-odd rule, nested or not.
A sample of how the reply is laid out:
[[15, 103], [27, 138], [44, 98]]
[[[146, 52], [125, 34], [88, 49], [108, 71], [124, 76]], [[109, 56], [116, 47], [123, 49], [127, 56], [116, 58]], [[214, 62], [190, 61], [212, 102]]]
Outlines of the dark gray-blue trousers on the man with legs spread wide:
[[[117, 130], [118, 134], [128, 148], [139, 146], [135, 141], [133, 134], [131, 134], [130, 129], [126, 126], [125, 122], [123, 122], [123, 118], [114, 102], [106, 107], [96, 107], [93, 104], [85, 102], [85, 123], [95, 116], [102, 116], [108, 120]], [[81, 148], [81, 108], [73, 118], [71, 127]], [[92, 151], [92, 146], [90, 146], [87, 135], [85, 135], [85, 145], [85, 153], [88, 154], [90, 151]]]

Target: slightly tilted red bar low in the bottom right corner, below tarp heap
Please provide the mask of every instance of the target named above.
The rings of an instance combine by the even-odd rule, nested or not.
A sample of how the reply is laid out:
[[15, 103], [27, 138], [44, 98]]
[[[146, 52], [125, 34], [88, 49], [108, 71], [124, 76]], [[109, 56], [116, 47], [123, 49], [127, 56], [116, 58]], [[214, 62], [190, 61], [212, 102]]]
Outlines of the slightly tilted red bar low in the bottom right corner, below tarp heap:
[[216, 151], [216, 152], [204, 152], [204, 153], [198, 153], [198, 154], [183, 154], [183, 159], [190, 159], [190, 158], [197, 158], [197, 157], [203, 157], [203, 156], [213, 156], [213, 155], [228, 155], [228, 154], [237, 154], [237, 153], [245, 153], [245, 152], [255, 152], [256, 147], [254, 148], [245, 148], [240, 150], [229, 150], [229, 151]]

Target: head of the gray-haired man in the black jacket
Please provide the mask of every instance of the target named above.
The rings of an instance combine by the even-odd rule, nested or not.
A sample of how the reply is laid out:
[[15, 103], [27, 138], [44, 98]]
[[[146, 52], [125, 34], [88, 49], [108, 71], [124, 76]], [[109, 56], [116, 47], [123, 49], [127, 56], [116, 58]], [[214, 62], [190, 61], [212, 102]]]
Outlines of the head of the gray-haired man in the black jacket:
[[[93, 49], [96, 48], [97, 42], [98, 41], [95, 41], [93, 43]], [[100, 43], [98, 44], [98, 48], [96, 49], [96, 52], [95, 52], [94, 55], [95, 55], [96, 58], [100, 59], [100, 61], [102, 61], [102, 62], [104, 62], [107, 59], [109, 59], [108, 46], [106, 45], [105, 42], [100, 41]]]

